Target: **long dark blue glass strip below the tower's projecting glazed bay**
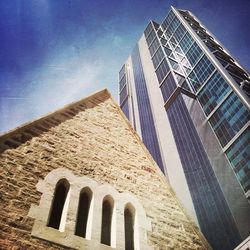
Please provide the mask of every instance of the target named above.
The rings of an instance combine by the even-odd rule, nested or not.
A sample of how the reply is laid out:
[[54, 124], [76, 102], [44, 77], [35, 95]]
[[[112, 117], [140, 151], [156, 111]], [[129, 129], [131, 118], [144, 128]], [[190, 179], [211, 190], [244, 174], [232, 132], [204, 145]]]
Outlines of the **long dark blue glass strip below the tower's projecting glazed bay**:
[[181, 95], [167, 115], [201, 230], [213, 249], [232, 249], [240, 236]]

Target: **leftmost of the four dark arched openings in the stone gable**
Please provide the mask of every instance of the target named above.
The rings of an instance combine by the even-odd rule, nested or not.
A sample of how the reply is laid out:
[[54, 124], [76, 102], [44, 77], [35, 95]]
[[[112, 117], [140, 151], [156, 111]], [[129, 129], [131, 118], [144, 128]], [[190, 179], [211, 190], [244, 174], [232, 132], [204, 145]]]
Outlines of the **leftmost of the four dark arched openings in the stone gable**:
[[[66, 179], [61, 179], [56, 184], [47, 224], [49, 227], [60, 229], [62, 217], [66, 219], [67, 209], [65, 209], [65, 201], [69, 193], [69, 186], [69, 182]], [[63, 215], [63, 213], [65, 213], [65, 215]]]

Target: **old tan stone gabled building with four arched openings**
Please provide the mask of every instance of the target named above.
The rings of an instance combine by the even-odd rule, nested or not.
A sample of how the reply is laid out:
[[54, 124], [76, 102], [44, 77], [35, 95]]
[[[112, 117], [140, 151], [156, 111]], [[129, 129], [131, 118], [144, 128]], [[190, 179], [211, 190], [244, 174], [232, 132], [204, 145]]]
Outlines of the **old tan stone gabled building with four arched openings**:
[[107, 90], [0, 137], [1, 249], [210, 249]]

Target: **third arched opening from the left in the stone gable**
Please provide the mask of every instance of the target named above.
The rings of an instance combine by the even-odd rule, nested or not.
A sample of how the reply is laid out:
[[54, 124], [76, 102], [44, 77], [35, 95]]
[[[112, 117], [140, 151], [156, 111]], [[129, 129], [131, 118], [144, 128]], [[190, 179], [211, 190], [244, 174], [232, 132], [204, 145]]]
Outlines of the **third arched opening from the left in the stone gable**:
[[113, 209], [114, 209], [113, 198], [111, 196], [105, 196], [102, 203], [101, 243], [108, 246], [111, 246]]

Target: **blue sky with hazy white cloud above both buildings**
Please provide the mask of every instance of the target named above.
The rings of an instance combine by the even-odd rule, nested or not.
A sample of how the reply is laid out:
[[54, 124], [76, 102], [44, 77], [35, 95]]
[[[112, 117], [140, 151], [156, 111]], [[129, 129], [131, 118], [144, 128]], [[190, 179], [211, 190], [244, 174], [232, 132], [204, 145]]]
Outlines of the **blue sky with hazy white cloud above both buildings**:
[[150, 19], [192, 11], [250, 69], [249, 0], [0, 0], [0, 133], [107, 87]]

